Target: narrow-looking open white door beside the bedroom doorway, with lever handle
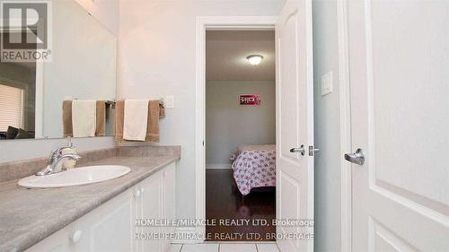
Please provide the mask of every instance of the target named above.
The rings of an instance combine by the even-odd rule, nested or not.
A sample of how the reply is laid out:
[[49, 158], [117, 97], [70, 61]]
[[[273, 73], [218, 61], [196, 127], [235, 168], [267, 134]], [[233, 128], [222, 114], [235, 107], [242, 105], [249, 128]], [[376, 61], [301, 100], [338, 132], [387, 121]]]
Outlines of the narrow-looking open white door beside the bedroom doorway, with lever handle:
[[[277, 219], [313, 220], [312, 2], [287, 1], [276, 25]], [[301, 153], [301, 146], [304, 152]], [[295, 152], [290, 149], [295, 148]], [[281, 251], [313, 251], [313, 226], [277, 226]]]

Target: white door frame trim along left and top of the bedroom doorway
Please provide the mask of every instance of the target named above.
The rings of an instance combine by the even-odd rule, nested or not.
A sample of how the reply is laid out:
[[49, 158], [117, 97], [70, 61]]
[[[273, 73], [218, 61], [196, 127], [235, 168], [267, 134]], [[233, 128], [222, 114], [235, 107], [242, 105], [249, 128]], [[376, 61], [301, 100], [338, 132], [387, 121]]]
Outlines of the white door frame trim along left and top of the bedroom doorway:
[[[206, 30], [274, 30], [277, 16], [198, 16], [196, 32], [195, 215], [206, 219]], [[206, 227], [198, 226], [205, 234]], [[202, 242], [198, 239], [194, 242]], [[192, 242], [192, 241], [190, 241]]]

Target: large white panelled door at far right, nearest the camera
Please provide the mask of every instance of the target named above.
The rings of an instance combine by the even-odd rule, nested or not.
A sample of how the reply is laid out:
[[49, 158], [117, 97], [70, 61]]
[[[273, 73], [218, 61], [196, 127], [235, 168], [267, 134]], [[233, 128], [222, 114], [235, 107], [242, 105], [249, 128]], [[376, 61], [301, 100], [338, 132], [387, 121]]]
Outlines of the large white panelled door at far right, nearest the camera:
[[449, 251], [448, 10], [348, 2], [353, 251]]

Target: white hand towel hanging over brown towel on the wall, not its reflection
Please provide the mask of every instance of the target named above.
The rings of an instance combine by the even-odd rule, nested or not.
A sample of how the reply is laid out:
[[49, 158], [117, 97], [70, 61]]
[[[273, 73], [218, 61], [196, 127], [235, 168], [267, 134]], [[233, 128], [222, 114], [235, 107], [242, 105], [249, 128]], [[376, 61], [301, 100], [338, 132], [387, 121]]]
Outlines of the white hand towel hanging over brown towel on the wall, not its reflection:
[[145, 141], [148, 100], [125, 100], [123, 139]]

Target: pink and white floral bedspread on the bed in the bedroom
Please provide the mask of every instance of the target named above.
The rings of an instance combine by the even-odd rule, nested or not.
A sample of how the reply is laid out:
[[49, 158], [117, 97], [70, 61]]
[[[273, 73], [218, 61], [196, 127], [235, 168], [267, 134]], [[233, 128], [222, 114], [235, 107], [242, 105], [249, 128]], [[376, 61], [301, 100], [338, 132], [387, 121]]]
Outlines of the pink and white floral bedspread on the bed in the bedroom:
[[242, 145], [233, 152], [233, 178], [243, 196], [255, 187], [276, 187], [276, 146]]

